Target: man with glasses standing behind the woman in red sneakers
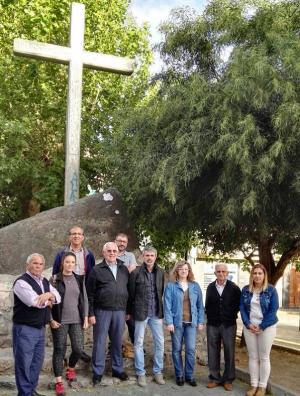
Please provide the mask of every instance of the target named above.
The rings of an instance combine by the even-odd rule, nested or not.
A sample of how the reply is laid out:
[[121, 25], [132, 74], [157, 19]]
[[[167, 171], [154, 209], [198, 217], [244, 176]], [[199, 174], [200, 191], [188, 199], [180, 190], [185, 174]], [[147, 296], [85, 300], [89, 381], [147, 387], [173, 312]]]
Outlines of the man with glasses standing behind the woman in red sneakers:
[[81, 227], [74, 226], [69, 230], [69, 245], [65, 246], [63, 250], [57, 253], [52, 268], [52, 275], [58, 274], [61, 265], [61, 259], [64, 253], [72, 252], [76, 255], [76, 267], [75, 273], [77, 275], [85, 276], [88, 275], [91, 269], [95, 265], [95, 257], [93, 253], [83, 246], [84, 232]]

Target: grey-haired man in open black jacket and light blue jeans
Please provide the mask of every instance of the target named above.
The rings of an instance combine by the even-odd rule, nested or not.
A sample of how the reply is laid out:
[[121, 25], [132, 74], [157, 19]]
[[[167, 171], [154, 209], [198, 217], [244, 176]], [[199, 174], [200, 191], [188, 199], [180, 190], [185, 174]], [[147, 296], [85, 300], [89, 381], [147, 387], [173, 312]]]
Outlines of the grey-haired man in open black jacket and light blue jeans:
[[146, 247], [143, 251], [143, 265], [131, 272], [129, 278], [129, 312], [135, 320], [135, 370], [140, 386], [147, 385], [144, 367], [144, 335], [147, 325], [149, 325], [151, 329], [154, 343], [154, 379], [160, 385], [165, 383], [162, 376], [164, 357], [162, 320], [164, 272], [156, 264], [156, 256], [156, 249], [153, 247]]

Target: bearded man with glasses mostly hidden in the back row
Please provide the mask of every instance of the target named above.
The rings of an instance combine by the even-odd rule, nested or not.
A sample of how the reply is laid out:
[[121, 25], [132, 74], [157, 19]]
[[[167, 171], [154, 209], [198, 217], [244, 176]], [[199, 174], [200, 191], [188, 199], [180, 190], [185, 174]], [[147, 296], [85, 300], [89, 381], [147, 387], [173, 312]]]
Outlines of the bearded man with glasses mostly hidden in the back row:
[[[123, 264], [128, 268], [129, 273], [131, 273], [136, 269], [137, 264], [134, 254], [126, 250], [128, 245], [127, 234], [120, 232], [119, 234], [116, 235], [115, 242], [119, 250], [118, 259], [123, 261]], [[126, 320], [126, 324], [128, 327], [128, 334], [130, 341], [132, 345], [134, 345], [134, 330], [135, 330], [134, 320], [132, 318], [129, 318], [128, 320]]]

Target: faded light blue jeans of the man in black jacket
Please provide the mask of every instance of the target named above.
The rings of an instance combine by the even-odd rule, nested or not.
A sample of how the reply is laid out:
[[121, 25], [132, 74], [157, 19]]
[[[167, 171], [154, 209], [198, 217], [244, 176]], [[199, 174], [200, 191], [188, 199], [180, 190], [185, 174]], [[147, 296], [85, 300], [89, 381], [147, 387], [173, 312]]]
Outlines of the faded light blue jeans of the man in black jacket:
[[153, 336], [153, 374], [161, 373], [164, 368], [164, 329], [163, 321], [156, 316], [143, 321], [135, 321], [134, 363], [137, 375], [145, 375], [144, 336], [149, 325]]

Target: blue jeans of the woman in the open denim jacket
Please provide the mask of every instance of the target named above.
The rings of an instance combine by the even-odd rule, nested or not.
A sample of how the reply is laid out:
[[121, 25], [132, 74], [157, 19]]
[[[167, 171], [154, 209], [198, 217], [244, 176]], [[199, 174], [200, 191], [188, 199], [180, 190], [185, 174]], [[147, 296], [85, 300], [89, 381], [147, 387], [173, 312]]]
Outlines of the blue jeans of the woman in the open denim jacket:
[[[183, 323], [182, 327], [175, 327], [172, 338], [172, 358], [176, 377], [185, 377], [190, 380], [193, 377], [195, 367], [195, 347], [196, 347], [197, 327], [189, 323]], [[182, 346], [185, 345], [185, 367], [182, 364]]]

